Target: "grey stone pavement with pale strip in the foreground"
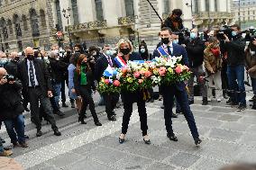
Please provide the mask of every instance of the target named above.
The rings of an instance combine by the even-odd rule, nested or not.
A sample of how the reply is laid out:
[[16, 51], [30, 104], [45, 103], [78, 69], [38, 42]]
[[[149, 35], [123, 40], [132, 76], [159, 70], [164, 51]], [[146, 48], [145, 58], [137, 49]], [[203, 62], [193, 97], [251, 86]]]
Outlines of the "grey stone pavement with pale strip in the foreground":
[[[199, 98], [197, 98], [199, 99]], [[113, 170], [147, 169], [216, 170], [233, 162], [256, 160], [256, 111], [247, 109], [235, 112], [222, 103], [191, 105], [203, 144], [196, 147], [183, 115], [173, 119], [178, 142], [166, 137], [161, 102], [147, 103], [151, 145], [142, 141], [140, 121], [134, 104], [126, 142], [118, 143], [123, 108], [116, 109], [117, 121], [107, 121], [104, 107], [96, 107], [102, 127], [96, 127], [92, 118], [87, 124], [78, 123], [78, 113], [70, 108], [63, 110], [64, 118], [57, 118], [61, 137], [55, 137], [50, 125], [44, 122], [40, 138], [30, 114], [25, 113], [25, 130], [30, 137], [29, 148], [14, 148], [13, 158], [30, 170]], [[173, 109], [175, 112], [175, 109]], [[5, 127], [1, 137], [10, 145]]]

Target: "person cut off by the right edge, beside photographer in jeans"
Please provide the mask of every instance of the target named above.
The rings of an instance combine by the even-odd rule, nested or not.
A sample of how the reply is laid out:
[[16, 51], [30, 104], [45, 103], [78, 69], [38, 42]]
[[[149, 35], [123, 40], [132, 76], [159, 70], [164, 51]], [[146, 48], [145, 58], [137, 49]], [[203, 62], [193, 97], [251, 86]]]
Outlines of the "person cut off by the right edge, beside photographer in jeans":
[[252, 40], [245, 49], [246, 71], [251, 76], [251, 86], [253, 91], [252, 108], [256, 109], [256, 39]]

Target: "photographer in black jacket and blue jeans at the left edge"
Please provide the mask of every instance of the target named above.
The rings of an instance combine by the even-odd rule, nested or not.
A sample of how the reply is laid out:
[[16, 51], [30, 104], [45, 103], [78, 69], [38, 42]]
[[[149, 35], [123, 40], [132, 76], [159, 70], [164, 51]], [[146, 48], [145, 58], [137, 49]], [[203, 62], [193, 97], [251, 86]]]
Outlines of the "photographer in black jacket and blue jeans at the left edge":
[[24, 138], [22, 84], [8, 75], [5, 68], [0, 68], [0, 121], [5, 122], [5, 128], [15, 147], [27, 148]]

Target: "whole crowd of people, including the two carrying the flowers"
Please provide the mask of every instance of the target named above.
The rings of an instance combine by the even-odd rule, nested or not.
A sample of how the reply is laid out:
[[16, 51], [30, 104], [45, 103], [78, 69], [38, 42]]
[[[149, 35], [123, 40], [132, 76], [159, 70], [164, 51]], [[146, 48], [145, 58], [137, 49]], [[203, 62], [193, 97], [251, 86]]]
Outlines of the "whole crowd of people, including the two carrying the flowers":
[[[183, 113], [196, 145], [202, 140], [199, 138], [197, 125], [190, 110], [189, 104], [194, 103], [195, 76], [200, 88], [200, 95], [204, 105], [213, 100], [221, 102], [228, 99], [227, 104], [237, 107], [238, 112], [246, 108], [246, 91], [244, 86], [244, 71], [251, 76], [251, 86], [254, 96], [251, 101], [252, 109], [256, 109], [256, 40], [249, 43], [242, 40], [241, 28], [234, 24], [232, 37], [224, 35], [219, 40], [215, 29], [207, 34], [206, 40], [201, 40], [196, 28], [190, 30], [189, 35], [180, 37], [176, 31], [182, 29], [180, 10], [174, 10], [160, 30], [160, 43], [153, 54], [150, 54], [144, 40], [139, 51], [133, 49], [130, 40], [122, 39], [117, 43], [115, 50], [110, 45], [102, 49], [90, 47], [88, 50], [76, 44], [73, 49], [59, 50], [53, 45], [49, 52], [27, 47], [22, 55], [17, 52], [0, 53], [0, 122], [5, 124], [6, 131], [14, 148], [27, 148], [24, 134], [23, 112], [31, 112], [31, 121], [35, 124], [36, 136], [41, 137], [41, 121], [50, 122], [53, 134], [61, 133], [56, 124], [54, 114], [59, 117], [65, 115], [60, 106], [69, 107], [66, 103], [66, 85], [69, 87], [69, 101], [71, 108], [78, 111], [78, 122], [87, 124], [87, 105], [93, 116], [96, 126], [102, 126], [96, 113], [93, 94], [107, 67], [122, 67], [114, 58], [123, 58], [123, 66], [127, 61], [149, 60], [154, 57], [182, 56], [182, 64], [189, 67], [192, 75], [187, 82], [178, 82], [173, 85], [160, 85], [159, 93], [148, 89], [150, 97], [144, 99], [143, 92], [122, 91], [123, 123], [119, 142], [125, 141], [130, 117], [133, 112], [133, 103], [137, 103], [141, 121], [142, 139], [151, 144], [148, 135], [146, 102], [153, 102], [155, 95], [163, 100], [165, 126], [167, 137], [178, 141], [172, 130], [171, 118], [177, 113]], [[133, 97], [131, 97], [133, 96]], [[114, 108], [119, 101], [120, 94], [101, 94], [101, 104], [105, 105], [105, 112], [109, 121], [116, 121]], [[60, 103], [61, 99], [61, 104]], [[172, 107], [176, 104], [176, 113]], [[28, 108], [30, 103], [30, 109]], [[0, 140], [0, 155], [9, 156], [12, 151], [3, 147], [4, 140]]]

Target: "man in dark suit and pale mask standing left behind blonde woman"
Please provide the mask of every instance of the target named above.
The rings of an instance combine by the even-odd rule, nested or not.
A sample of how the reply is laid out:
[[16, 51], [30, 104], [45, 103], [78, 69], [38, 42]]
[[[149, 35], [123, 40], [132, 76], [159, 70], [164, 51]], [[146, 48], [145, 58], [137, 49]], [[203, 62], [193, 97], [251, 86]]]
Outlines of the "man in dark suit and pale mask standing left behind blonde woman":
[[[109, 45], [103, 47], [103, 53], [96, 60], [95, 65], [95, 78], [99, 82], [104, 74], [105, 68], [110, 66], [114, 67], [114, 57], [112, 56], [112, 50]], [[103, 94], [105, 101], [105, 112], [109, 121], [116, 121], [114, 107], [119, 100], [119, 94]]]

